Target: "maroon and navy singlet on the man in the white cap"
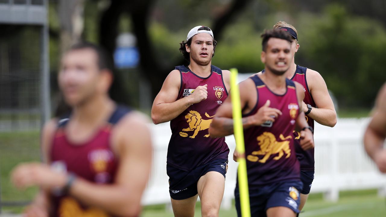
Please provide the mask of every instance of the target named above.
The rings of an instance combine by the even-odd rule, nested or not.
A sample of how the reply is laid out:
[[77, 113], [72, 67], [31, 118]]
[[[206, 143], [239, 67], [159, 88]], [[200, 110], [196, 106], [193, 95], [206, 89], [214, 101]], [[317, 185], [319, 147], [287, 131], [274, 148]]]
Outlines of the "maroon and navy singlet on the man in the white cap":
[[222, 71], [211, 66], [211, 73], [202, 78], [186, 66], [176, 66], [181, 74], [177, 100], [191, 95], [197, 86], [207, 86], [208, 97], [195, 103], [171, 120], [171, 138], [167, 163], [184, 171], [190, 171], [216, 159], [228, 159], [229, 148], [225, 137], [209, 137], [209, 127], [217, 108], [227, 98], [228, 92]]

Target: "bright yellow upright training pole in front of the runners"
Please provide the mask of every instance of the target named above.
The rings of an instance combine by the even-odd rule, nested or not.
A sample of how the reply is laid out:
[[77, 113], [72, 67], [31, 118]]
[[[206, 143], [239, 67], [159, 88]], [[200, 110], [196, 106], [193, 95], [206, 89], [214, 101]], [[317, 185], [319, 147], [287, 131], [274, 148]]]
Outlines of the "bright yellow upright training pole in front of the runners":
[[[233, 129], [236, 140], [236, 151], [239, 154], [245, 153], [244, 147], [244, 131], [242, 127], [241, 117], [241, 103], [240, 90], [237, 83], [237, 69], [230, 69], [230, 90], [232, 91], [232, 114], [233, 114]], [[248, 191], [248, 177], [247, 177], [247, 163], [245, 158], [239, 158], [238, 180], [240, 190], [240, 207], [242, 217], [251, 217], [251, 210], [249, 206], [249, 191]]]

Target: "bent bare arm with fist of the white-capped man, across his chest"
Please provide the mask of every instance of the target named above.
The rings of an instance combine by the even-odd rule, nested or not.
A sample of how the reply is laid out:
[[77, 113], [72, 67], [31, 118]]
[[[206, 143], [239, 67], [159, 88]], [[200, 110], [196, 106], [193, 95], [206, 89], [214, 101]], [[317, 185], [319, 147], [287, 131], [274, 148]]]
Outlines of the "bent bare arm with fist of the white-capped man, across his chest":
[[207, 98], [207, 87], [198, 86], [190, 96], [176, 100], [180, 85], [180, 72], [178, 70], [171, 71], [154, 99], [151, 108], [151, 119], [154, 124], [173, 120], [185, 111], [186, 108]]

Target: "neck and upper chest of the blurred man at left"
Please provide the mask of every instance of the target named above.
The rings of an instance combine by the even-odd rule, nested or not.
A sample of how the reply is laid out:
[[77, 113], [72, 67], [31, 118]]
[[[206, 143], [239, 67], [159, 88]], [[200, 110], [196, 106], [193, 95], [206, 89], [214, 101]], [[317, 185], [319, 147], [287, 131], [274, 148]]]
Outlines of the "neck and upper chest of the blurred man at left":
[[98, 124], [107, 120], [115, 103], [108, 96], [96, 96], [73, 108], [72, 119], [85, 125]]

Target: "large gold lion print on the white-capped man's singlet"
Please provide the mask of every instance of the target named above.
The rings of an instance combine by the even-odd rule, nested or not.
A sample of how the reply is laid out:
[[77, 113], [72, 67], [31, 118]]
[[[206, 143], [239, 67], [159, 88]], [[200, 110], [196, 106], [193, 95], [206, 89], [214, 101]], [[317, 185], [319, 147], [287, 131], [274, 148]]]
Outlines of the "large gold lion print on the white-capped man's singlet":
[[[205, 112], [205, 116], [207, 116], [209, 118], [214, 117], [214, 115], [209, 116], [208, 113], [206, 113], [206, 112]], [[192, 110], [188, 114], [185, 115], [185, 119], [186, 119], [186, 122], [188, 122], [189, 127], [182, 129], [182, 131], [184, 131], [184, 132], [179, 132], [179, 135], [182, 137], [186, 137], [186, 136], [188, 136], [186, 131], [194, 131], [193, 136], [189, 136], [189, 138], [191, 138], [191, 139], [194, 139], [197, 136], [199, 131], [203, 131], [203, 130], [208, 129], [210, 127], [210, 124], [212, 123], [212, 120], [213, 120], [213, 119], [205, 120], [201, 117], [200, 113], [198, 113], [196, 111], [192, 111]], [[208, 133], [204, 137], [209, 137], [209, 135], [210, 134]]]

